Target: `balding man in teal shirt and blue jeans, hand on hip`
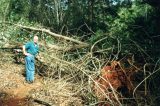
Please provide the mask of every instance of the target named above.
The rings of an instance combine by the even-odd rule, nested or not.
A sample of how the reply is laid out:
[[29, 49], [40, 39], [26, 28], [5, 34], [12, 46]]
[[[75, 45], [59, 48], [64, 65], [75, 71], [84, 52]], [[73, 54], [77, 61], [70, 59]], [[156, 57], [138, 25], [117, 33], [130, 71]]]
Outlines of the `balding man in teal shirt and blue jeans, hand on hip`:
[[27, 83], [33, 83], [35, 73], [35, 56], [38, 54], [38, 36], [34, 36], [33, 41], [23, 46], [23, 54], [25, 57], [25, 71]]

